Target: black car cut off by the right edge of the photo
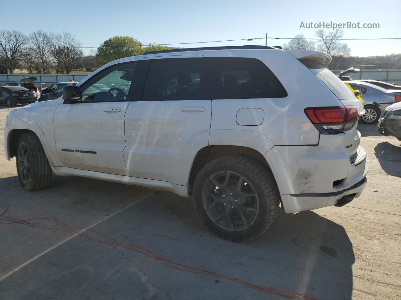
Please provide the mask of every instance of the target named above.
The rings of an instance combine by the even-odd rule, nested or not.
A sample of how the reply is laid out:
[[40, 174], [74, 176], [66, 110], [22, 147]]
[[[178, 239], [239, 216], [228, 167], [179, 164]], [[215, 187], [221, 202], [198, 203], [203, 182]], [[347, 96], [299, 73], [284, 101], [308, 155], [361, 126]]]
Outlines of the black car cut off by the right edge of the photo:
[[397, 102], [388, 106], [380, 118], [379, 133], [384, 136], [395, 136], [401, 141], [401, 102]]

